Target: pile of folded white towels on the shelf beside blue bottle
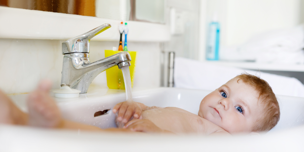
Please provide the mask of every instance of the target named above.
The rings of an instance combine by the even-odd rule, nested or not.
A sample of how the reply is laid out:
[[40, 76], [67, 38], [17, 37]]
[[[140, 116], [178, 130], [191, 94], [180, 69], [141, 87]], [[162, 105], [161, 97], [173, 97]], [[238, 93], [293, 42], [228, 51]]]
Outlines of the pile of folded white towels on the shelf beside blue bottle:
[[222, 46], [221, 60], [253, 60], [259, 63], [304, 63], [304, 25], [277, 29], [251, 37], [239, 46]]

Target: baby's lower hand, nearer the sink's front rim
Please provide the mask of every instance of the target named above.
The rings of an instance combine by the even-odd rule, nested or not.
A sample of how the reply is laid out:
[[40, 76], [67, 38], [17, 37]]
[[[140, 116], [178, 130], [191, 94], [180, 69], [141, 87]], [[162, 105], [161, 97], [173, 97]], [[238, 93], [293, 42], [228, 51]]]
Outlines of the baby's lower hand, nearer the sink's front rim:
[[162, 130], [157, 127], [148, 119], [133, 119], [129, 121], [123, 128], [130, 129], [131, 131], [141, 131], [145, 133], [164, 133], [169, 132], [167, 130]]

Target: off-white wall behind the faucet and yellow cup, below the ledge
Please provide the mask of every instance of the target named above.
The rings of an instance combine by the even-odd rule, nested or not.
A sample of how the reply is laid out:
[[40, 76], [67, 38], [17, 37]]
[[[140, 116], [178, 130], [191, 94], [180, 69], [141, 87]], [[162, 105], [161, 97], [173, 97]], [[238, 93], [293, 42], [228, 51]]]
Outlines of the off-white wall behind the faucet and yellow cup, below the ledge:
[[[0, 39], [0, 88], [6, 94], [31, 92], [42, 78], [60, 87], [63, 40]], [[118, 47], [118, 42], [91, 41], [90, 60], [104, 58], [104, 50]], [[158, 42], [128, 42], [128, 49], [138, 51], [133, 87], [160, 86], [160, 45]], [[93, 85], [107, 88], [105, 72]]]

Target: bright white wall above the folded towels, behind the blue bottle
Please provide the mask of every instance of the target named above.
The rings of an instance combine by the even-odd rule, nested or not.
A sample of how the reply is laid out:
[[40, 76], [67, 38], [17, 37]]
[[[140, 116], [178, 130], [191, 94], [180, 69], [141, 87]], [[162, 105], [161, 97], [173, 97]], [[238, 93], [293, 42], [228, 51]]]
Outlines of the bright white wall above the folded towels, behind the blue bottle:
[[300, 0], [207, 0], [206, 24], [213, 12], [221, 24], [221, 46], [239, 45], [258, 33], [298, 25]]

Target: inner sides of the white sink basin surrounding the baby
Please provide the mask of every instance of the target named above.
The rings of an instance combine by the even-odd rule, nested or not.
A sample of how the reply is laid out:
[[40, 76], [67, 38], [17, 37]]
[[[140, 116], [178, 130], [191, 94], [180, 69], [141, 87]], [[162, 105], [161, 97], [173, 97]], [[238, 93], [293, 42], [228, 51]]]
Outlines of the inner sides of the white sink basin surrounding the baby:
[[[201, 100], [211, 91], [154, 88], [133, 89], [133, 100], [147, 106], [178, 107], [197, 114]], [[26, 111], [25, 98], [27, 95], [11, 96], [15, 103]], [[270, 131], [289, 129], [304, 124], [304, 98], [277, 95], [281, 110], [278, 124]], [[79, 98], [55, 98], [65, 119], [85, 123], [99, 128], [116, 127], [115, 114], [112, 108], [126, 100], [124, 90], [100, 89], [89, 90], [80, 94]], [[97, 114], [95, 114], [97, 112]], [[99, 113], [98, 113], [99, 112]], [[95, 116], [94, 116], [95, 115]], [[99, 115], [99, 116], [96, 116]]]

